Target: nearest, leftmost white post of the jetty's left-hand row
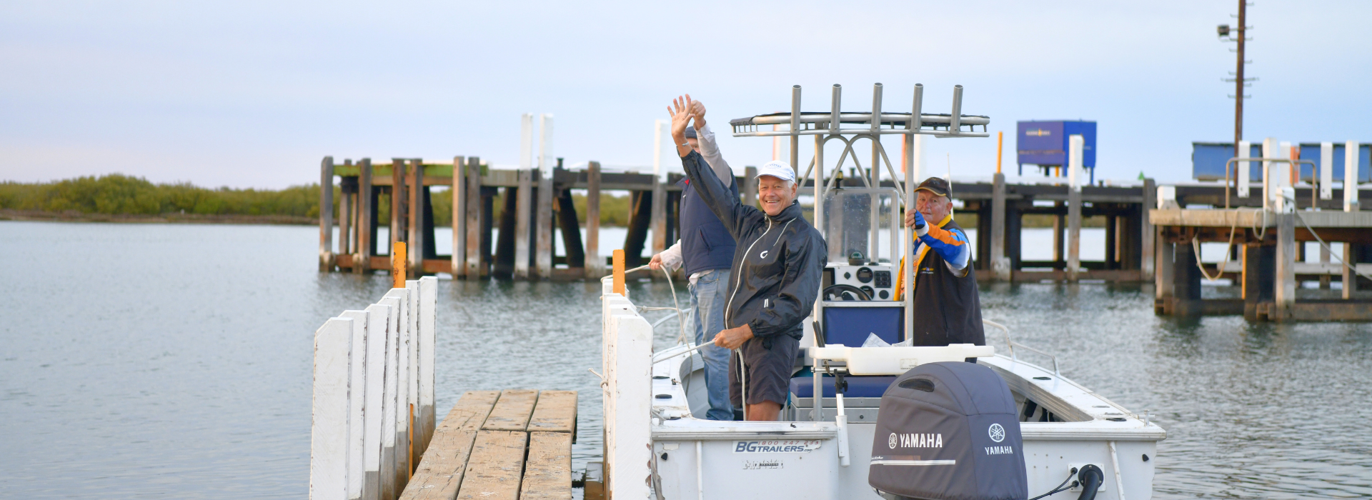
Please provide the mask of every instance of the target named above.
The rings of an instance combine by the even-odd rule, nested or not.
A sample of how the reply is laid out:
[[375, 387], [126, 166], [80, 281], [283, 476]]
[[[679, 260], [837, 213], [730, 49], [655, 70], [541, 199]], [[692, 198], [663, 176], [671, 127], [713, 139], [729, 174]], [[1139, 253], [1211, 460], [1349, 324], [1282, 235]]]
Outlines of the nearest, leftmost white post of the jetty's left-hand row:
[[347, 499], [348, 351], [353, 319], [331, 318], [314, 333], [310, 403], [310, 499]]

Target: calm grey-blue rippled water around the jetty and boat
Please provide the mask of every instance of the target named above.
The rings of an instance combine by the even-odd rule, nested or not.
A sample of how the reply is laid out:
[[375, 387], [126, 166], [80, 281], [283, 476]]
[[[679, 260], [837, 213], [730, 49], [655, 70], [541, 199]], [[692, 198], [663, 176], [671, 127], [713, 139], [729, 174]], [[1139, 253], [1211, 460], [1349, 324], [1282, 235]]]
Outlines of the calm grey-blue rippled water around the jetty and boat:
[[[0, 222], [0, 497], [305, 497], [311, 334], [388, 286], [318, 274], [317, 234]], [[464, 390], [576, 389], [575, 467], [598, 456], [597, 289], [440, 282], [439, 415]], [[665, 284], [631, 290], [671, 301]], [[1151, 297], [981, 296], [1065, 375], [1168, 429], [1157, 497], [1372, 496], [1372, 325], [1176, 322]]]

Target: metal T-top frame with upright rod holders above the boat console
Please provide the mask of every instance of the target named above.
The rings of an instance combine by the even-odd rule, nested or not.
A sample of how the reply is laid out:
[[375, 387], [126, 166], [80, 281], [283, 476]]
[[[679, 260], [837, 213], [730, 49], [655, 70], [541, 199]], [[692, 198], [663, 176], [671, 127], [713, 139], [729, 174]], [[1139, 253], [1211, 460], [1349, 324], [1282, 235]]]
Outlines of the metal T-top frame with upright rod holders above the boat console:
[[[925, 86], [922, 84], [915, 84], [915, 96], [910, 112], [885, 112], [881, 108], [881, 93], [882, 85], [873, 85], [871, 95], [871, 111], [870, 112], [842, 112], [840, 111], [842, 86], [834, 84], [833, 97], [830, 101], [829, 112], [803, 112], [800, 111], [800, 85], [793, 85], [790, 88], [790, 111], [789, 112], [774, 112], [767, 115], [756, 115], [752, 118], [740, 118], [729, 122], [733, 126], [734, 137], [777, 137], [789, 136], [790, 137], [790, 167], [796, 171], [799, 185], [804, 186], [805, 181], [814, 174], [814, 196], [815, 196], [815, 211], [814, 211], [814, 226], [825, 236], [829, 241], [829, 234], [825, 230], [825, 210], [822, 204], [825, 195], [830, 189], [838, 188], [836, 179], [840, 177], [840, 171], [844, 167], [844, 162], [852, 156], [853, 166], [859, 173], [863, 173], [862, 163], [858, 162], [858, 153], [853, 151], [853, 144], [860, 138], [871, 141], [871, 166], [870, 173], [863, 173], [858, 175], [862, 178], [863, 185], [868, 189], [878, 188], [881, 185], [881, 168], [879, 164], [885, 163], [886, 171], [890, 174], [892, 181], [900, 195], [900, 201], [906, 207], [912, 207], [915, 200], [915, 186], [921, 179], [914, 178], [914, 171], [911, 166], [914, 164], [914, 140], [916, 134], [921, 136], [934, 136], [934, 137], [989, 137], [986, 126], [991, 123], [989, 116], [984, 115], [963, 115], [962, 114], [962, 85], [955, 85], [952, 89], [952, 111], [949, 114], [926, 114], [923, 112], [923, 95]], [[774, 130], [761, 130], [761, 126], [771, 125]], [[858, 125], [858, 126], [845, 126]], [[786, 129], [777, 130], [782, 126]], [[977, 132], [977, 127], [981, 132]], [[897, 175], [895, 166], [890, 163], [890, 158], [886, 155], [886, 149], [882, 148], [879, 136], [899, 134], [904, 136], [904, 156], [903, 164], [906, 166], [904, 175]], [[800, 174], [800, 136], [815, 136], [815, 155], [809, 160], [809, 166], [805, 168], [804, 175]], [[834, 164], [833, 171], [826, 174], [825, 170], [825, 145], [829, 141], [844, 142], [844, 152], [838, 156], [838, 162]], [[904, 181], [901, 181], [904, 178]], [[820, 179], [823, 179], [820, 182]], [[951, 179], [949, 179], [951, 181]], [[871, 247], [875, 249], [878, 247], [878, 227], [877, 221], [879, 210], [877, 204], [879, 203], [878, 196], [871, 197]], [[904, 210], [899, 211], [896, 216], [897, 221], [904, 221]], [[937, 222], [937, 221], [932, 221]], [[903, 223], [903, 222], [896, 222]], [[910, 255], [911, 245], [914, 240], [910, 233], [910, 227], [904, 227], [901, 232], [900, 255]], [[892, 256], [890, 264], [896, 266], [897, 258]], [[904, 314], [904, 332], [911, 332], [914, 329], [914, 266], [906, 266], [904, 268], [904, 290], [903, 290], [903, 305]], [[816, 297], [815, 300], [815, 318], [823, 318], [823, 297]]]

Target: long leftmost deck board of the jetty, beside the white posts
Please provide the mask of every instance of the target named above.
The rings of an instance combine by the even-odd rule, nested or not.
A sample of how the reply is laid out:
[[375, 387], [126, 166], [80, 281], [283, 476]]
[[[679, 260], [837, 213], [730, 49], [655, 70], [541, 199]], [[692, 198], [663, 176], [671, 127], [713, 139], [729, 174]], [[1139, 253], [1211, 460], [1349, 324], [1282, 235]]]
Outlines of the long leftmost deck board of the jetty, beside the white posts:
[[477, 430], [499, 397], [497, 390], [472, 390], [453, 405], [429, 441], [401, 500], [453, 500], [462, 485]]

